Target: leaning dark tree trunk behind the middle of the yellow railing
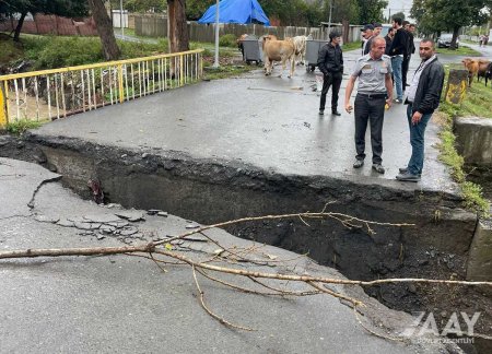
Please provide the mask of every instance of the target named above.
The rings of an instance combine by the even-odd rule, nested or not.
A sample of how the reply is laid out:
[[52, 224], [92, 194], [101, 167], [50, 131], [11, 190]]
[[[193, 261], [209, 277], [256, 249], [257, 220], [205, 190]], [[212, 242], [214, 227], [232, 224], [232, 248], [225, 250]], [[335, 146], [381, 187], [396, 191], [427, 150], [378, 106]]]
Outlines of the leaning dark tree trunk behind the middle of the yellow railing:
[[117, 60], [119, 58], [119, 48], [116, 44], [113, 23], [107, 15], [103, 0], [89, 0], [89, 7], [103, 44], [103, 52], [106, 60]]

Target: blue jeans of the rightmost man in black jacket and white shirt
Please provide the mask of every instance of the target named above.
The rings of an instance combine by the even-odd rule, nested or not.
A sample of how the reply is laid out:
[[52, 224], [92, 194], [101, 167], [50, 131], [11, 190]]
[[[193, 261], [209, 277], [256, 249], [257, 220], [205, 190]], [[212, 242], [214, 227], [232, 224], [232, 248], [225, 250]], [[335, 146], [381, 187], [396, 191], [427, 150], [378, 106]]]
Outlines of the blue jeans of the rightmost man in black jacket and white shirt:
[[422, 174], [424, 160], [424, 134], [427, 122], [432, 114], [425, 114], [418, 125], [412, 125], [412, 105], [407, 107], [408, 127], [410, 129], [410, 144], [412, 145], [412, 156], [408, 162], [407, 168], [412, 175]]

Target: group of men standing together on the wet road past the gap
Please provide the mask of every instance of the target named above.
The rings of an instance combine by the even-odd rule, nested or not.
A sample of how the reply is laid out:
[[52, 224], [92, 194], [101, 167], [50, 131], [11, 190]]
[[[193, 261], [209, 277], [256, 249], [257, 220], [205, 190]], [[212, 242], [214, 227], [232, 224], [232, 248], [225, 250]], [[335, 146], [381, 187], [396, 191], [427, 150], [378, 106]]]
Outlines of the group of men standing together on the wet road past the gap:
[[[373, 151], [372, 168], [384, 174], [383, 167], [383, 122], [385, 108], [389, 109], [393, 102], [403, 103], [407, 107], [407, 120], [410, 130], [412, 155], [406, 167], [399, 168], [396, 176], [401, 181], [419, 181], [424, 160], [424, 133], [426, 125], [437, 108], [444, 84], [444, 69], [435, 56], [435, 44], [425, 38], [420, 43], [419, 55], [422, 59], [413, 78], [407, 83], [407, 72], [411, 55], [414, 54], [413, 33], [415, 26], [399, 17], [393, 20], [393, 28], [388, 35], [380, 36], [383, 26], [379, 23], [365, 25], [362, 57], [356, 60], [345, 88], [344, 108], [355, 116], [355, 150], [354, 168], [364, 165], [365, 132], [371, 128], [371, 145]], [[326, 96], [332, 86], [331, 114], [338, 111], [338, 94], [343, 74], [343, 55], [340, 48], [340, 34], [331, 32], [329, 43], [318, 52], [318, 67], [324, 74], [324, 84], [319, 103], [319, 115], [324, 115]], [[359, 79], [358, 94], [354, 105], [350, 97]], [[394, 85], [396, 98], [394, 99]], [[406, 90], [408, 87], [408, 90]]]

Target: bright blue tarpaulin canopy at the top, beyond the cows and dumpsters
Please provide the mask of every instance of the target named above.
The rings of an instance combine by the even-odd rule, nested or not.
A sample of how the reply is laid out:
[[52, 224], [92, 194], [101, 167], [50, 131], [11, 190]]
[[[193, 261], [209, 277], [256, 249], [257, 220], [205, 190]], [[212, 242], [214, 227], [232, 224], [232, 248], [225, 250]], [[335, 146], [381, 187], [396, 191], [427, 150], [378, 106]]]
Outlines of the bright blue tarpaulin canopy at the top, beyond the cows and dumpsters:
[[[198, 20], [198, 23], [215, 22], [216, 4], [211, 5]], [[270, 21], [261, 9], [257, 0], [222, 0], [219, 3], [219, 23], [255, 23], [259, 22], [266, 26]]]

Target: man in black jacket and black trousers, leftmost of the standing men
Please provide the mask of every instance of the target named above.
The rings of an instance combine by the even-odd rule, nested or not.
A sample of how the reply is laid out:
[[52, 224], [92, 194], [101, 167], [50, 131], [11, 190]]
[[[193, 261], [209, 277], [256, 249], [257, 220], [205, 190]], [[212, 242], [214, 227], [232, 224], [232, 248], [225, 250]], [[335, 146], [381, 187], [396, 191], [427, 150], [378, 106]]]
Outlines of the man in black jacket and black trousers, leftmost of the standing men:
[[321, 99], [319, 101], [319, 115], [325, 114], [326, 95], [331, 88], [331, 114], [341, 116], [338, 111], [338, 93], [343, 74], [343, 54], [340, 48], [340, 34], [331, 32], [329, 34], [330, 42], [324, 45], [318, 52], [318, 68], [323, 72], [323, 90]]

